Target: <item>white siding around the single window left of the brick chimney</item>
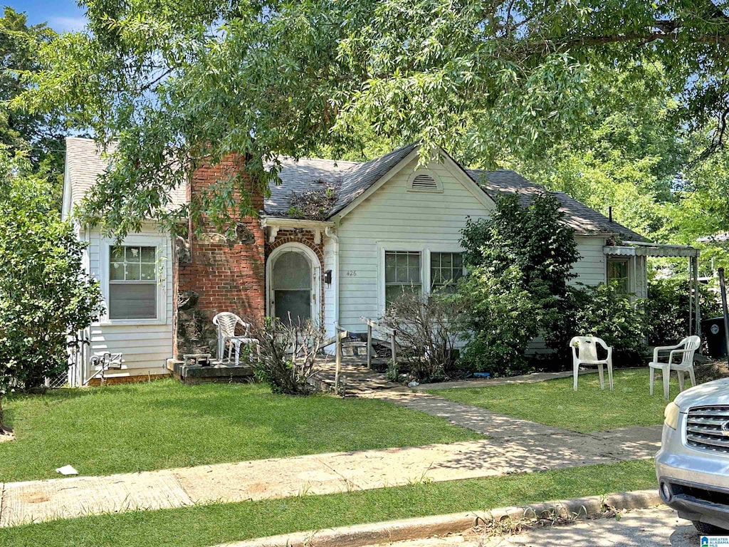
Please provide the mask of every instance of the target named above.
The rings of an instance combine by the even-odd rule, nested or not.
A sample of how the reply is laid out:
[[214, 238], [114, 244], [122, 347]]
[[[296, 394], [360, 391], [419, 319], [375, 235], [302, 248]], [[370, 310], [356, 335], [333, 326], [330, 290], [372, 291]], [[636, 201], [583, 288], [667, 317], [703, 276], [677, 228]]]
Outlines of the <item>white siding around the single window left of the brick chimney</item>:
[[[105, 300], [108, 298], [106, 289], [106, 274], [108, 265], [108, 246], [113, 244], [107, 238], [101, 236], [98, 230], [87, 232], [86, 238], [90, 245], [87, 249], [90, 275], [101, 281], [101, 289], [104, 292]], [[160, 247], [160, 283], [159, 292], [161, 299], [160, 319], [133, 324], [128, 321], [124, 324], [114, 324], [105, 317], [90, 327], [90, 354], [122, 353], [124, 360], [122, 369], [112, 369], [104, 376], [135, 376], [142, 374], [166, 373], [165, 361], [172, 357], [173, 353], [173, 309], [172, 309], [172, 249], [171, 238], [155, 229], [153, 225], [146, 225], [140, 233], [133, 233], [124, 241], [125, 244], [149, 244]], [[108, 309], [108, 302], [105, 302]], [[88, 364], [87, 364], [88, 367]], [[93, 373], [94, 371], [90, 371]], [[87, 376], [89, 369], [87, 368]]]

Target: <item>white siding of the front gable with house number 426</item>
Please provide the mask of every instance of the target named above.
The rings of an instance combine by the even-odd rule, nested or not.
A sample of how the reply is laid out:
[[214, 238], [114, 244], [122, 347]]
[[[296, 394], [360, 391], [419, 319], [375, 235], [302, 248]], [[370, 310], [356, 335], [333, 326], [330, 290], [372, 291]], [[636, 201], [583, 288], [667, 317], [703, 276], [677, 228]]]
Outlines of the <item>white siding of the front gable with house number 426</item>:
[[440, 179], [443, 193], [408, 191], [416, 164], [413, 160], [402, 168], [340, 222], [339, 322], [347, 330], [362, 332], [360, 317], [382, 313], [382, 249], [457, 252], [466, 217], [488, 216], [486, 206], [464, 186], [467, 176], [442, 163], [432, 163], [429, 171]]

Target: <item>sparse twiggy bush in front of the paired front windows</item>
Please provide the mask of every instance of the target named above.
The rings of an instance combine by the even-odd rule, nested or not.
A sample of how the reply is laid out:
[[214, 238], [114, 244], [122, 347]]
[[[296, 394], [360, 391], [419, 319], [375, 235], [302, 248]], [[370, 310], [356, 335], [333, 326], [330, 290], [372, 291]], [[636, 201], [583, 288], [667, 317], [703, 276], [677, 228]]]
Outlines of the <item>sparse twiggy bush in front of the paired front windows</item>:
[[380, 322], [397, 330], [397, 341], [407, 348], [401, 356], [408, 360], [411, 379], [445, 379], [455, 361], [462, 311], [459, 299], [441, 292], [426, 296], [405, 292], [388, 306]]

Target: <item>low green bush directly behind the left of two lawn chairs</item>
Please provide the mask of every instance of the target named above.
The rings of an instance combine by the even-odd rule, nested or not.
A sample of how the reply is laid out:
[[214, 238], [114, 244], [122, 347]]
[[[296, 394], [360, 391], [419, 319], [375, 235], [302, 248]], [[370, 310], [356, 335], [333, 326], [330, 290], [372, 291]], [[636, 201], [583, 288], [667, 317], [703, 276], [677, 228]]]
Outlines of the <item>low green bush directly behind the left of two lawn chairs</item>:
[[641, 364], [647, 349], [644, 306], [644, 300], [623, 294], [618, 282], [570, 287], [561, 305], [562, 321], [545, 333], [545, 341], [555, 348], [553, 362], [561, 369], [571, 362], [573, 336], [598, 336], [612, 347], [615, 365]]

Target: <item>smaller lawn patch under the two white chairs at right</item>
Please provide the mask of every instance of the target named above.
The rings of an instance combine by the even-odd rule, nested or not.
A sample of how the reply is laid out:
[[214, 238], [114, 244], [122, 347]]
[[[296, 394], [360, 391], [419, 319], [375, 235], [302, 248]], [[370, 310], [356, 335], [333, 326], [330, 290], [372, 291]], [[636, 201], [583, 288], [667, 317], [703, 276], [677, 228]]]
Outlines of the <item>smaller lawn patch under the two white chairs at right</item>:
[[[430, 393], [469, 405], [578, 432], [593, 432], [631, 425], [663, 423], [663, 384], [656, 375], [649, 395], [648, 368], [614, 371], [615, 391], [600, 390], [597, 374], [580, 376], [577, 392], [572, 377], [534, 384], [437, 389]], [[688, 379], [687, 379], [688, 381]], [[690, 384], [689, 384], [690, 385]], [[678, 381], [671, 381], [671, 394], [678, 395]]]

